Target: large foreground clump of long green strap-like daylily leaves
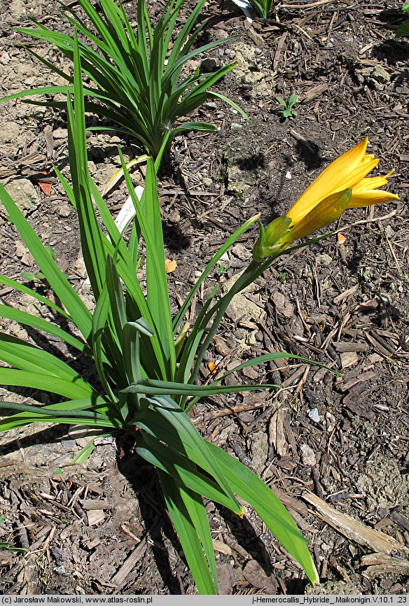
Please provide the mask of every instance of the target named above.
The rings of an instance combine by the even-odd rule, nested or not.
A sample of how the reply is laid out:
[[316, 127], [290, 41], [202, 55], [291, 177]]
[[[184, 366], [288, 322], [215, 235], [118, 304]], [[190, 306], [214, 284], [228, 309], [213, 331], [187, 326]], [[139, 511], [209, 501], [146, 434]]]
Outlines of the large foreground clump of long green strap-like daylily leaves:
[[[144, 195], [139, 201], [123, 164], [136, 213], [125, 244], [88, 173], [80, 55], [81, 46], [74, 40], [74, 107], [70, 97], [67, 105], [71, 185], [59, 171], [57, 174], [78, 214], [83, 259], [95, 309], [90, 311], [85, 306], [0, 186], [6, 213], [59, 302], [56, 304], [36, 290], [0, 276], [0, 283], [47, 306], [56, 320], [49, 321], [6, 304], [0, 304], [0, 316], [50, 335], [53, 344], [57, 337], [78, 356], [89, 358], [95, 366], [95, 379], [85, 380], [71, 367], [69, 358], [64, 359], [61, 354], [54, 355], [32, 341], [0, 332], [0, 360], [6, 364], [0, 367], [0, 384], [40, 390], [56, 395], [59, 400], [47, 405], [0, 402], [0, 407], [8, 411], [8, 416], [0, 421], [0, 430], [48, 421], [91, 425], [132, 435], [139, 456], [158, 472], [169, 514], [200, 593], [218, 591], [212, 533], [203, 498], [244, 516], [245, 510], [236, 495], [254, 507], [315, 583], [317, 571], [305, 540], [282, 502], [256, 474], [203, 439], [188, 416], [200, 397], [275, 387], [226, 386], [222, 383], [228, 374], [278, 357], [297, 357], [288, 353], [261, 355], [218, 376], [209, 385], [196, 384], [203, 356], [228, 303], [235, 293], [260, 276], [271, 260], [252, 261], [235, 286], [218, 300], [214, 290], [188, 332], [181, 328], [183, 317], [223, 253], [254, 225], [258, 216], [244, 223], [214, 255], [172, 318], [155, 165], [149, 158]], [[146, 250], [146, 292], [137, 279], [142, 237]], [[68, 322], [67, 330], [60, 327], [60, 318]], [[92, 444], [85, 453], [91, 449]]]

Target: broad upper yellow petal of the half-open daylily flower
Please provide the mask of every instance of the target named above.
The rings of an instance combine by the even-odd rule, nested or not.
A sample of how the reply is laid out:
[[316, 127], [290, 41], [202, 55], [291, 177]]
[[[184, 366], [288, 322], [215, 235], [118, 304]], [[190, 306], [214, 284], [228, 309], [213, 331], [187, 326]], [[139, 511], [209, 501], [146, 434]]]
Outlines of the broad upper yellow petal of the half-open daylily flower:
[[378, 162], [373, 155], [366, 154], [367, 145], [368, 139], [363, 139], [361, 143], [331, 162], [298, 198], [287, 217], [297, 223], [324, 198], [359, 183]]

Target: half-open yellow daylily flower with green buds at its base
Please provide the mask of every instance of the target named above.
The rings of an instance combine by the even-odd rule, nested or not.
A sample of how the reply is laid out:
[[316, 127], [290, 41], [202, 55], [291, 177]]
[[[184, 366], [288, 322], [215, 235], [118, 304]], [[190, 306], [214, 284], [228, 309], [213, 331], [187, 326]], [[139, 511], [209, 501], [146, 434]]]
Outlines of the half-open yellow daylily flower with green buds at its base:
[[379, 162], [379, 158], [366, 153], [367, 146], [368, 138], [331, 162], [285, 217], [278, 217], [266, 228], [260, 224], [260, 237], [253, 249], [256, 262], [278, 256], [294, 241], [333, 223], [347, 209], [400, 199], [379, 189], [387, 185], [393, 171], [367, 177]]

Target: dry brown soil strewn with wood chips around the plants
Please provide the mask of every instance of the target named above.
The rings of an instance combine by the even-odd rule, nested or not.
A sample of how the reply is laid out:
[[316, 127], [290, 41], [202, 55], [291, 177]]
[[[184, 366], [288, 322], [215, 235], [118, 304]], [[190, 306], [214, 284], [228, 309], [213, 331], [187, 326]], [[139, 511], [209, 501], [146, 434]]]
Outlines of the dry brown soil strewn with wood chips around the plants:
[[[29, 25], [29, 16], [62, 27], [57, 3], [3, 4], [2, 94], [55, 81], [11, 27]], [[258, 211], [265, 223], [285, 213], [321, 169], [364, 136], [381, 159], [377, 174], [395, 170], [389, 187], [402, 202], [349, 211], [338, 225], [353, 224], [345, 240], [334, 236], [283, 256], [230, 308], [207, 360], [226, 369], [258, 353], [291, 351], [342, 377], [307, 364], [247, 369], [232, 381], [268, 380], [277, 392], [202, 402], [193, 421], [289, 507], [321, 576], [316, 593], [407, 593], [409, 45], [394, 38], [400, 5], [281, 4], [269, 22], [251, 26], [229, 2], [210, 1], [205, 13], [213, 17], [207, 37], [243, 34], [213, 56], [219, 64], [237, 59], [217, 90], [251, 122], [209, 102], [198, 116], [214, 120], [219, 132], [176, 141], [162, 171], [167, 256], [177, 262], [169, 274], [174, 309], [235, 228]], [[66, 66], [46, 45], [36, 43], [36, 52]], [[299, 97], [298, 116], [284, 120], [276, 95], [291, 93]], [[74, 211], [52, 171], [56, 164], [67, 173], [64, 115], [13, 101], [0, 105], [0, 120], [0, 178], [92, 305]], [[140, 151], [119, 137], [88, 141], [101, 187], [118, 167], [118, 144], [129, 157]], [[46, 181], [48, 195], [39, 185]], [[109, 196], [113, 213], [124, 198], [120, 185]], [[0, 272], [18, 278], [36, 271], [4, 214], [0, 230]], [[246, 265], [255, 238], [256, 230], [237, 243], [214, 283], [223, 288]], [[27, 306], [8, 288], [0, 297]], [[27, 337], [6, 320], [1, 329]], [[205, 367], [202, 378], [209, 380]], [[27, 551], [0, 550], [0, 591], [195, 593], [152, 469], [120, 437], [99, 437], [87, 463], [71, 464], [88, 439], [46, 425], [1, 435], [0, 542]], [[312, 591], [249, 508], [242, 521], [211, 502], [207, 511], [221, 593]]]

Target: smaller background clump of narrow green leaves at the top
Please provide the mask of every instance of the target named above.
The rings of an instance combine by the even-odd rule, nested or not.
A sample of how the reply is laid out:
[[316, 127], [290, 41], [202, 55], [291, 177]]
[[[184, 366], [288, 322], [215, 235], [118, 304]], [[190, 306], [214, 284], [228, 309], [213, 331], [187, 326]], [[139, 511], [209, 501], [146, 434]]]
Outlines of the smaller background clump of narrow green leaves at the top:
[[[116, 3], [114, 0], [100, 0], [99, 10], [92, 6], [89, 0], [78, 0], [85, 13], [85, 19], [81, 13], [64, 3], [61, 5], [64, 18], [81, 33], [81, 65], [84, 75], [88, 78], [84, 91], [87, 95], [85, 111], [95, 113], [104, 122], [111, 124], [94, 129], [126, 133], [140, 141], [147, 153], [153, 157], [157, 157], [162, 149], [167, 148], [176, 134], [186, 130], [216, 130], [214, 125], [207, 122], [184, 121], [187, 115], [193, 113], [209, 98], [226, 101], [247, 118], [231, 99], [209, 90], [235, 67], [235, 63], [221, 66], [212, 73], [201, 73], [199, 69], [188, 73], [188, 62], [191, 59], [209, 52], [226, 40], [195, 48], [197, 38], [206, 24], [206, 21], [203, 21], [195, 28], [205, 0], [197, 3], [179, 34], [174, 37], [184, 2], [185, 0], [168, 0], [162, 15], [153, 25], [145, 0], [138, 0], [135, 31], [122, 3]], [[36, 29], [17, 30], [52, 43], [72, 61], [74, 36], [52, 31], [35, 21], [34, 24]], [[232, 36], [227, 41], [235, 37]], [[25, 90], [4, 99], [73, 92], [72, 75], [67, 75], [32, 48], [28, 50], [60, 77], [69, 80], [70, 84]], [[53, 99], [30, 102], [65, 108], [63, 102]]]

